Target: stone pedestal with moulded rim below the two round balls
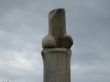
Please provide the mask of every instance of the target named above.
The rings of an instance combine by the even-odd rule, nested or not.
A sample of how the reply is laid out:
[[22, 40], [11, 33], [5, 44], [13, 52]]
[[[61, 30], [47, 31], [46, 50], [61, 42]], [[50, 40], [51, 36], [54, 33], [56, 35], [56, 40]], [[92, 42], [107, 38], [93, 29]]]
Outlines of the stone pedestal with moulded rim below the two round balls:
[[45, 48], [42, 57], [44, 82], [70, 82], [70, 49]]

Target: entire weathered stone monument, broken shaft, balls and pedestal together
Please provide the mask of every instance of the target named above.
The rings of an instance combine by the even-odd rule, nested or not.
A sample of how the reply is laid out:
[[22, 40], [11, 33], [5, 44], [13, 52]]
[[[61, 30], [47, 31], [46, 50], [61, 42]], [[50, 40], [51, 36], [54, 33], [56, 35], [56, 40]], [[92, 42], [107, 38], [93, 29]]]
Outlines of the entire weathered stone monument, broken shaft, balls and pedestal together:
[[72, 38], [66, 34], [65, 10], [49, 13], [49, 33], [42, 40], [44, 82], [70, 82]]

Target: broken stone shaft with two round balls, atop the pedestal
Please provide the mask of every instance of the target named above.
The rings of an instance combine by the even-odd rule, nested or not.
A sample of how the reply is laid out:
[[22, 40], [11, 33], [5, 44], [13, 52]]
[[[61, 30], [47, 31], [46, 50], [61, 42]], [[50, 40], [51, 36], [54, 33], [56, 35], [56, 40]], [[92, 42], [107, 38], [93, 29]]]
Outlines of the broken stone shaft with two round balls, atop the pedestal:
[[55, 9], [49, 13], [49, 34], [43, 39], [43, 48], [70, 48], [71, 36], [66, 35], [65, 10]]

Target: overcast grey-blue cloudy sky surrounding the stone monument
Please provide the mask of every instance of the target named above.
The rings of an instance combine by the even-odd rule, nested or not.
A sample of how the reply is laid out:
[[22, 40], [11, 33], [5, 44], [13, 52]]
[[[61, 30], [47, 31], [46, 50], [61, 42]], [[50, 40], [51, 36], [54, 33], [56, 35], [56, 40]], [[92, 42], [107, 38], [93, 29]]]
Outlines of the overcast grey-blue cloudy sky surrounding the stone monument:
[[56, 8], [74, 38], [71, 82], [110, 82], [110, 0], [0, 0], [0, 82], [43, 82], [41, 42]]

